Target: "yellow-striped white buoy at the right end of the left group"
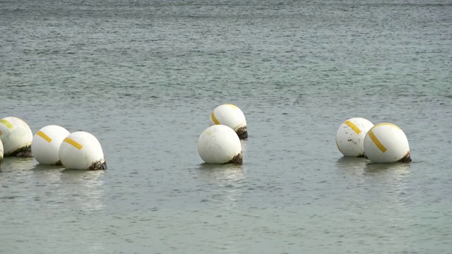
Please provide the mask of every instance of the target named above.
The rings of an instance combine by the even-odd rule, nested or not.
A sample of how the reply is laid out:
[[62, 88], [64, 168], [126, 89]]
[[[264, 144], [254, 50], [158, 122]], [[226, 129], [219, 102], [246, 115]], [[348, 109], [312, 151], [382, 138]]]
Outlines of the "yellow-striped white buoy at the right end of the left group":
[[107, 169], [99, 141], [85, 131], [76, 131], [64, 138], [59, 147], [59, 159], [66, 169]]

